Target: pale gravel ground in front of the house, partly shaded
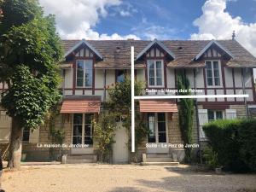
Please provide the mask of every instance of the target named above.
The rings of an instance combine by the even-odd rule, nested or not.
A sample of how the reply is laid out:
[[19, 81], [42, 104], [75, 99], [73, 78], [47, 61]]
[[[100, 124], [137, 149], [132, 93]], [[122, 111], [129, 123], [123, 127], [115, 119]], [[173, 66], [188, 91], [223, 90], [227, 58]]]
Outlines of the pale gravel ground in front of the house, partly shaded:
[[[4, 172], [7, 192], [81, 191], [248, 191], [256, 189], [256, 175], [193, 172], [187, 166], [44, 165], [22, 166]], [[255, 190], [256, 191], [256, 190]]]

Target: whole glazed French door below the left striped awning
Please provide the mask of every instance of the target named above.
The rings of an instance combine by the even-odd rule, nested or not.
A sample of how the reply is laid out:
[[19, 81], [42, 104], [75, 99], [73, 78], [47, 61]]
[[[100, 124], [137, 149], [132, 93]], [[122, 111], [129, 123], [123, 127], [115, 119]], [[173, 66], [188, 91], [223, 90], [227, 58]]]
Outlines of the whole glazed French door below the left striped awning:
[[93, 154], [93, 113], [73, 113], [72, 154]]

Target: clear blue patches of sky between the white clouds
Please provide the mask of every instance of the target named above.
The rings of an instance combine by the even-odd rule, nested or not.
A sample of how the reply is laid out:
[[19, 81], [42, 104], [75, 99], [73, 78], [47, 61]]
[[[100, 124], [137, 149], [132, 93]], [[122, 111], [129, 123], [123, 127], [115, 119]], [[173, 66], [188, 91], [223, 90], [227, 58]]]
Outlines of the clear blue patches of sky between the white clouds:
[[[162, 30], [160, 38], [188, 39], [190, 34], [198, 32], [193, 21], [202, 15], [203, 0], [148, 0], [124, 1], [119, 7], [108, 8], [108, 17], [102, 18], [94, 30], [100, 33], [120, 35], [135, 34], [139, 38], [148, 38], [143, 29]], [[129, 15], [119, 14], [120, 9], [129, 11]], [[246, 23], [256, 21], [256, 1], [237, 0], [227, 3], [227, 12], [233, 17], [241, 16]], [[154, 29], [152, 29], [154, 30]], [[163, 33], [163, 32], [160, 32]], [[231, 32], [230, 32], [231, 33]]]

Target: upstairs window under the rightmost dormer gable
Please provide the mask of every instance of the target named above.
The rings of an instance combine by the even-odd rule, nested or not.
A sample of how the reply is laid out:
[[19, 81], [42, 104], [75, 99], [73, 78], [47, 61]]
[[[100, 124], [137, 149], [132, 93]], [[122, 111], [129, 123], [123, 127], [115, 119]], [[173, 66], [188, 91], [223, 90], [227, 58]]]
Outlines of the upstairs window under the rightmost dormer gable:
[[220, 62], [219, 61], [206, 61], [207, 66], [207, 85], [220, 86]]

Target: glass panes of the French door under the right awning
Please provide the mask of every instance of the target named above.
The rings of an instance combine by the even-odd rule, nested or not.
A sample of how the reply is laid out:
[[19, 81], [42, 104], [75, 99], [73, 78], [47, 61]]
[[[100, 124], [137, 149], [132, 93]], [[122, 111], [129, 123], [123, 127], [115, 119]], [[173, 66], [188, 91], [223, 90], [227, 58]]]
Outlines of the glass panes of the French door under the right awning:
[[166, 143], [166, 113], [148, 113], [148, 143]]

